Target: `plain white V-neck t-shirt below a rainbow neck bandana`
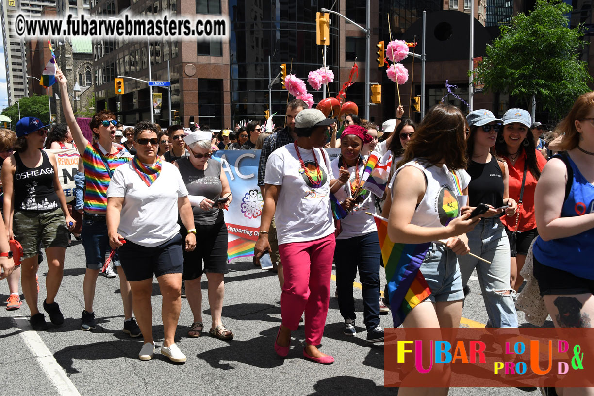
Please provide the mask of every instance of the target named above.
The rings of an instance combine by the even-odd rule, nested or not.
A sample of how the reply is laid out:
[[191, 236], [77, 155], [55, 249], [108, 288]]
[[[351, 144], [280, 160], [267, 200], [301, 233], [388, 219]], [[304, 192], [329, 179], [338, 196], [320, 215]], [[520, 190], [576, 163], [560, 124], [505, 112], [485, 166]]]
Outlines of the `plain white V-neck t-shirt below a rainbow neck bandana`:
[[151, 248], [179, 233], [178, 198], [188, 195], [175, 165], [161, 161], [161, 173], [150, 186], [138, 176], [132, 161], [119, 166], [109, 182], [108, 198], [123, 197], [118, 232], [125, 239]]

